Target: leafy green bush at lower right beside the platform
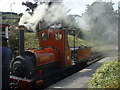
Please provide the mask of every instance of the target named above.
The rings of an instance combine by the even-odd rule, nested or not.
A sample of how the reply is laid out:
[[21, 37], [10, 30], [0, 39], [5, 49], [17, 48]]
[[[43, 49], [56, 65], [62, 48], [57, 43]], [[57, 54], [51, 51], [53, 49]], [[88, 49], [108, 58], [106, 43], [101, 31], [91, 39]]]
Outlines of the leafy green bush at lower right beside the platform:
[[120, 88], [120, 59], [101, 66], [89, 82], [89, 88]]

